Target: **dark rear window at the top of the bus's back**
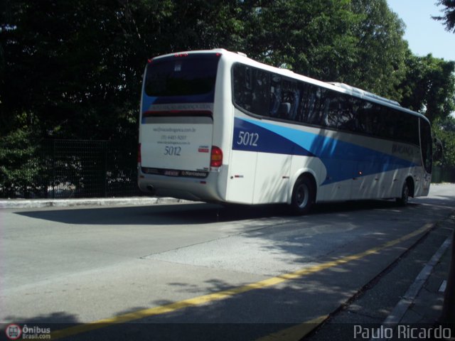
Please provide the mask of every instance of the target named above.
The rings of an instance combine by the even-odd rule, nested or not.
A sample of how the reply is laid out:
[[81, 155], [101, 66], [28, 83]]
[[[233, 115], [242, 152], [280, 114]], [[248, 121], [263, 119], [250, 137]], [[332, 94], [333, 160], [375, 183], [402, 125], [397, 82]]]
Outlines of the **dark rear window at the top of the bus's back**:
[[209, 94], [215, 88], [220, 55], [188, 54], [153, 60], [144, 90], [152, 97]]

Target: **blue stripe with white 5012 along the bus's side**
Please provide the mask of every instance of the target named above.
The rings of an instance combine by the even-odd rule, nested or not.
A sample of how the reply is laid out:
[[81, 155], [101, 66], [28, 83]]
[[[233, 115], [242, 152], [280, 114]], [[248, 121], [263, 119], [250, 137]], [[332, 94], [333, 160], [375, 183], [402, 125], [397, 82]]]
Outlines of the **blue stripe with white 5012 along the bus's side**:
[[[250, 143], [250, 136], [246, 145], [239, 144], [245, 142], [239, 136], [240, 131], [247, 131], [250, 136], [258, 134], [255, 145]], [[327, 171], [327, 178], [322, 185], [358, 177], [358, 171], [361, 171], [362, 175], [372, 175], [416, 166], [411, 161], [328, 136], [237, 117], [232, 149], [316, 156], [321, 159]]]

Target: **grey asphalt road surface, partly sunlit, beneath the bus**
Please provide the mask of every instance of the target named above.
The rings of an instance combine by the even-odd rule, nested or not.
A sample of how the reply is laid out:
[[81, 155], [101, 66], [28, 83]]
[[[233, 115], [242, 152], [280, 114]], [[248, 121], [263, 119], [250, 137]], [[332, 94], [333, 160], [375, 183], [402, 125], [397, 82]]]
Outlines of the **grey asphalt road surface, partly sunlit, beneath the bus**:
[[455, 185], [434, 185], [407, 207], [344, 202], [304, 217], [203, 203], [4, 209], [0, 320], [50, 323], [63, 330], [55, 336], [81, 340], [91, 329], [119, 335], [124, 323], [133, 334], [150, 323], [210, 324], [207, 339], [255, 340], [336, 310], [454, 207]]

